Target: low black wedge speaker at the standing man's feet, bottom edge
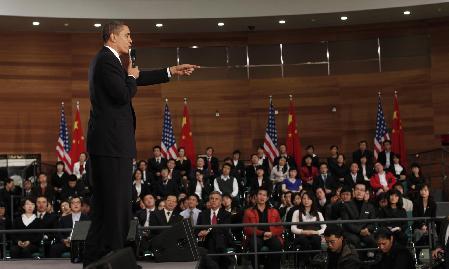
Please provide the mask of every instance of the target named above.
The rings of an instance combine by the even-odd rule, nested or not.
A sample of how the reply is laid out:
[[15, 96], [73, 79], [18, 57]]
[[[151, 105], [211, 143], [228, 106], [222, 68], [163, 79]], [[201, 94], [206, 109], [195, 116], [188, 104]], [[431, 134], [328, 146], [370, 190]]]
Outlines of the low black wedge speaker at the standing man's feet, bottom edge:
[[128, 247], [104, 256], [85, 269], [137, 269], [137, 262], [133, 250]]

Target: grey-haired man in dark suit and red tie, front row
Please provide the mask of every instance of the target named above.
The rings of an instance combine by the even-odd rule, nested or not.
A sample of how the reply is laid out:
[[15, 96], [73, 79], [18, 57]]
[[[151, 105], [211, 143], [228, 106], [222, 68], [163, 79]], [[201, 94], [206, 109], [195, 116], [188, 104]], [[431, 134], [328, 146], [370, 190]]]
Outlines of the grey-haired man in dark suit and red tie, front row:
[[[209, 195], [210, 208], [201, 211], [198, 216], [198, 225], [212, 225], [209, 229], [197, 230], [196, 234], [202, 245], [209, 253], [225, 253], [232, 246], [232, 235], [229, 228], [214, 228], [216, 224], [230, 224], [231, 213], [221, 207], [222, 195], [213, 191]], [[231, 256], [216, 256], [212, 258], [219, 268], [227, 269], [233, 264]]]

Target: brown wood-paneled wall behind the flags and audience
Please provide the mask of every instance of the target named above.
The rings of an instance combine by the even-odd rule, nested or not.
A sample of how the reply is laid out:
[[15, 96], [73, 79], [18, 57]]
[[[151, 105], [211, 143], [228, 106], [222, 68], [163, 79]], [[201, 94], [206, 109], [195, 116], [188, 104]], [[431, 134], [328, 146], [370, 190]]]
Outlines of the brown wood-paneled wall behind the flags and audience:
[[[430, 68], [309, 77], [289, 74], [288, 78], [251, 80], [175, 78], [167, 84], [141, 87], [133, 101], [138, 118], [138, 158], [147, 158], [152, 147], [160, 143], [165, 98], [169, 99], [178, 139], [183, 98], [188, 97], [197, 152], [213, 146], [223, 158], [238, 148], [247, 158], [263, 141], [270, 95], [279, 112], [279, 142], [285, 141], [289, 94], [294, 95], [304, 146], [314, 144], [321, 156], [327, 156], [331, 144], [350, 152], [359, 140], [372, 141], [379, 90], [388, 125], [393, 93], [399, 91], [409, 150], [435, 148], [439, 146], [436, 136], [449, 132], [447, 20], [281, 32], [138, 34], [134, 40], [139, 46], [176, 47], [366, 39], [398, 33], [430, 35]], [[61, 101], [66, 103], [70, 127], [76, 101], [80, 102], [86, 130], [90, 109], [88, 65], [100, 47], [97, 34], [2, 33], [0, 152], [42, 153], [44, 162], [53, 163]], [[202, 76], [207, 77], [207, 72]], [[220, 117], [215, 116], [216, 111]]]

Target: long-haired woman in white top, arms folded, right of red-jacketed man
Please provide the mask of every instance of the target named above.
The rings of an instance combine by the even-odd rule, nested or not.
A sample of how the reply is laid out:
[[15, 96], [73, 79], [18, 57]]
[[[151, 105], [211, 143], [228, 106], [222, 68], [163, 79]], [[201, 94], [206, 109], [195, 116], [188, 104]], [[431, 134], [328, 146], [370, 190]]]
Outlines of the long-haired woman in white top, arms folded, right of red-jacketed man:
[[[324, 221], [323, 214], [317, 210], [315, 196], [311, 192], [304, 192], [301, 196], [299, 209], [293, 213], [292, 222]], [[291, 231], [295, 235], [295, 246], [299, 250], [320, 250], [321, 236], [326, 224], [292, 225]], [[307, 262], [313, 255], [303, 254], [299, 260]]]

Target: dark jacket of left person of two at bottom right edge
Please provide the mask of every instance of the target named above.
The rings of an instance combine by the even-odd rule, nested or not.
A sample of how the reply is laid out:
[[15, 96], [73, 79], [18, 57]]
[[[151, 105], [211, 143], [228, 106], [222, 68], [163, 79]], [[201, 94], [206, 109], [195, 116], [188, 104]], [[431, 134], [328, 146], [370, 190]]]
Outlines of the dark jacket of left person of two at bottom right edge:
[[[354, 246], [344, 242], [340, 253], [327, 251], [328, 269], [358, 269], [360, 268], [360, 259]], [[390, 268], [391, 269], [391, 268]]]

